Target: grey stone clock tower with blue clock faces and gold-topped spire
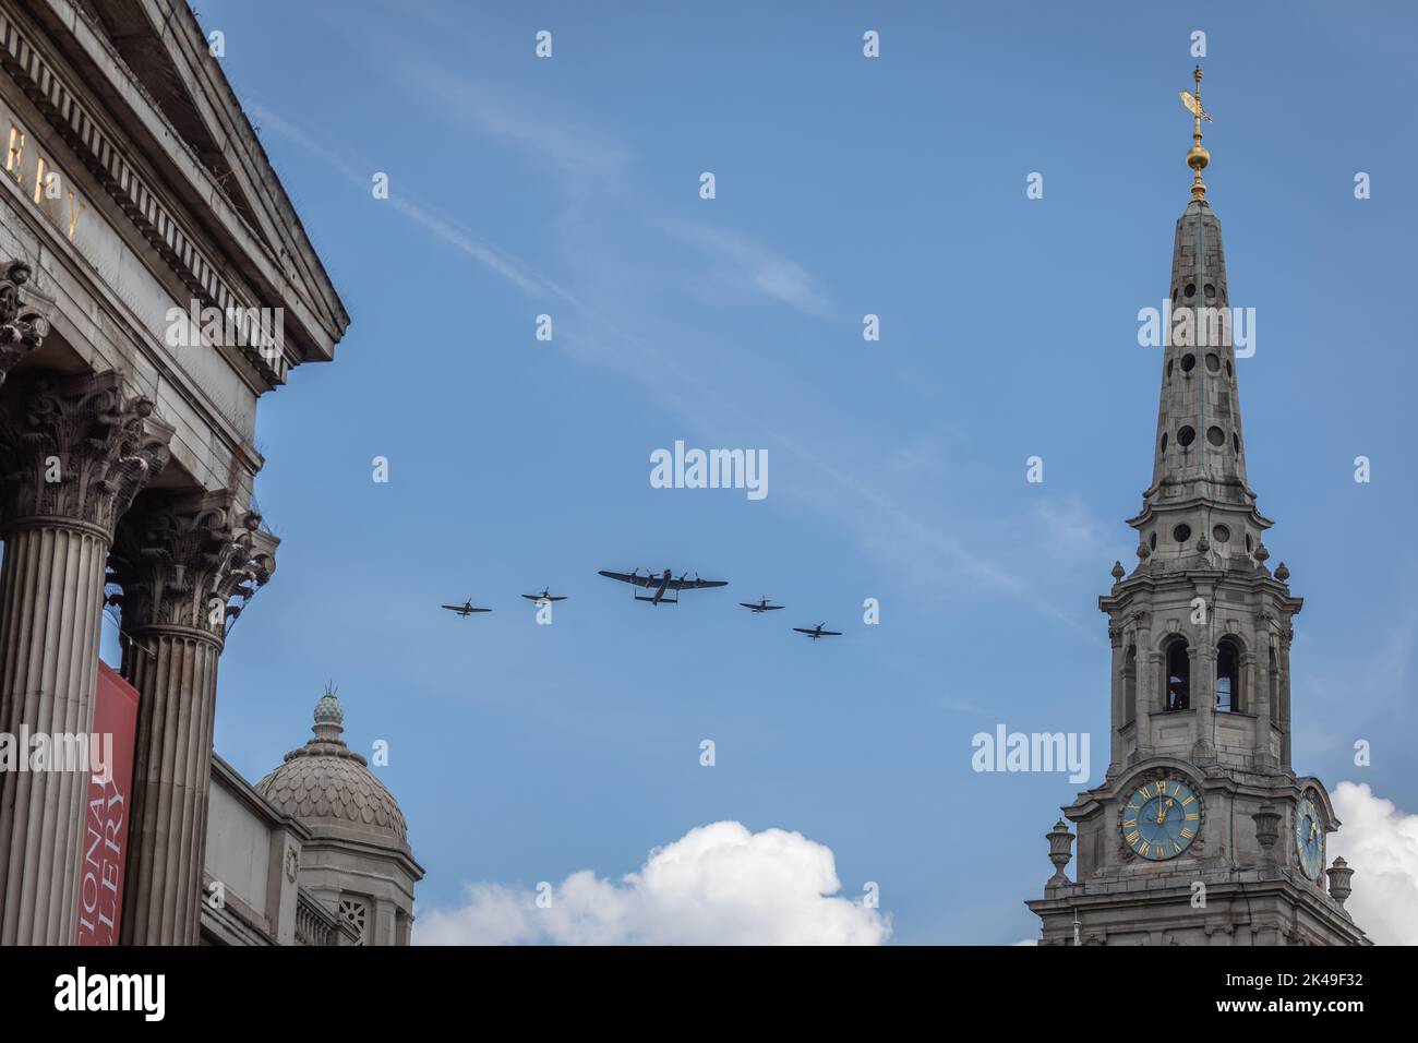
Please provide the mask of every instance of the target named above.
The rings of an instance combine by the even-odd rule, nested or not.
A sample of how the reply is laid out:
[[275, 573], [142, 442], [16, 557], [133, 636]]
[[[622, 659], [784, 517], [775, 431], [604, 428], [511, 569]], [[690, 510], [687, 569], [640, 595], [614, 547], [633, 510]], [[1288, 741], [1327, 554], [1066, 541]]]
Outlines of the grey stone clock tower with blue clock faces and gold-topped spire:
[[[1054, 877], [1028, 907], [1042, 945], [1367, 945], [1326, 868], [1324, 785], [1290, 765], [1290, 639], [1302, 599], [1273, 572], [1246, 478], [1221, 223], [1201, 172], [1177, 220], [1163, 312], [1151, 485], [1129, 519], [1137, 566], [1099, 599], [1112, 643], [1107, 772], [1048, 834]], [[1239, 309], [1238, 309], [1239, 311]], [[1245, 351], [1242, 351], [1242, 358]], [[1065, 868], [1078, 841], [1075, 878]]]

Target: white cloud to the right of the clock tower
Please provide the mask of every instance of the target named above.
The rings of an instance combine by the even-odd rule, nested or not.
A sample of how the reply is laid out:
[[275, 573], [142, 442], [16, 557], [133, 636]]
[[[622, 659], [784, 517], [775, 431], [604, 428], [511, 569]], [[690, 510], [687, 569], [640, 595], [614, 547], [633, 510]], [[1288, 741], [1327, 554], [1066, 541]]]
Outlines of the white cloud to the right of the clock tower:
[[1374, 796], [1367, 782], [1341, 782], [1332, 796], [1344, 824], [1329, 853], [1354, 870], [1344, 908], [1374, 944], [1418, 945], [1418, 815]]

